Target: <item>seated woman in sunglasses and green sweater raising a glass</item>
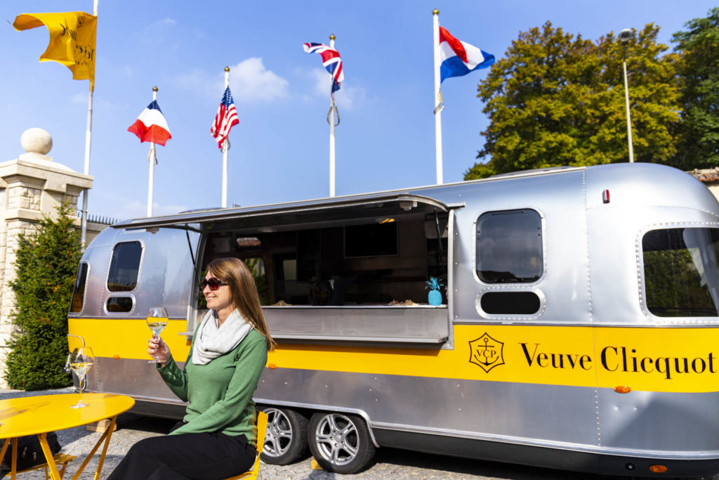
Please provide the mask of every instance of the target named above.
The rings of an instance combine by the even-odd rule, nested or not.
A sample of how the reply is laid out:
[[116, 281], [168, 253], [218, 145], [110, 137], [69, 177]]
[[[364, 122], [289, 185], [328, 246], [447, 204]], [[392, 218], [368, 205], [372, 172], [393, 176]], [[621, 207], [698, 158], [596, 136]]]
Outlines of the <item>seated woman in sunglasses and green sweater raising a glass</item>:
[[185, 368], [152, 337], [147, 353], [175, 395], [189, 402], [169, 435], [132, 445], [109, 479], [224, 479], [255, 462], [255, 402], [267, 350], [257, 287], [244, 262], [219, 258], [207, 266], [202, 293], [210, 309], [195, 330]]

